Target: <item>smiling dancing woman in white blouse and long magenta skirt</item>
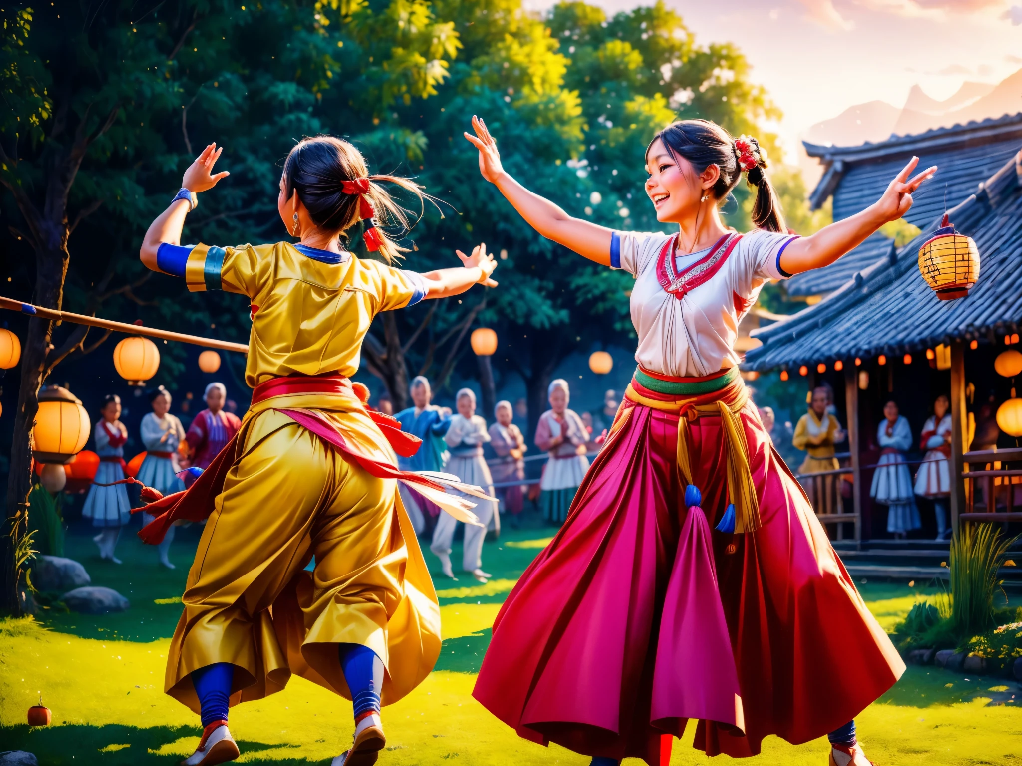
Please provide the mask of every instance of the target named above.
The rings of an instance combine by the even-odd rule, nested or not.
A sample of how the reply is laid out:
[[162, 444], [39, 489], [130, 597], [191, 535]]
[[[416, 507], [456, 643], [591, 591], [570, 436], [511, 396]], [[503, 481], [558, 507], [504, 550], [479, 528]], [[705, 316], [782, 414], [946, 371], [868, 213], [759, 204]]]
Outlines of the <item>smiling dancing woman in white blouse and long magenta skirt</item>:
[[[605, 446], [553, 541], [494, 623], [474, 696], [533, 741], [665, 764], [695, 747], [752, 756], [769, 734], [830, 732], [833, 766], [870, 762], [854, 716], [904, 670], [771, 444], [738, 374], [738, 324], [770, 279], [820, 269], [912, 206], [917, 159], [863, 212], [788, 234], [755, 139], [688, 119], [646, 150], [646, 194], [676, 234], [573, 219], [501, 166], [479, 170], [540, 234], [636, 278], [639, 363]], [[745, 175], [756, 229], [719, 205]]]

